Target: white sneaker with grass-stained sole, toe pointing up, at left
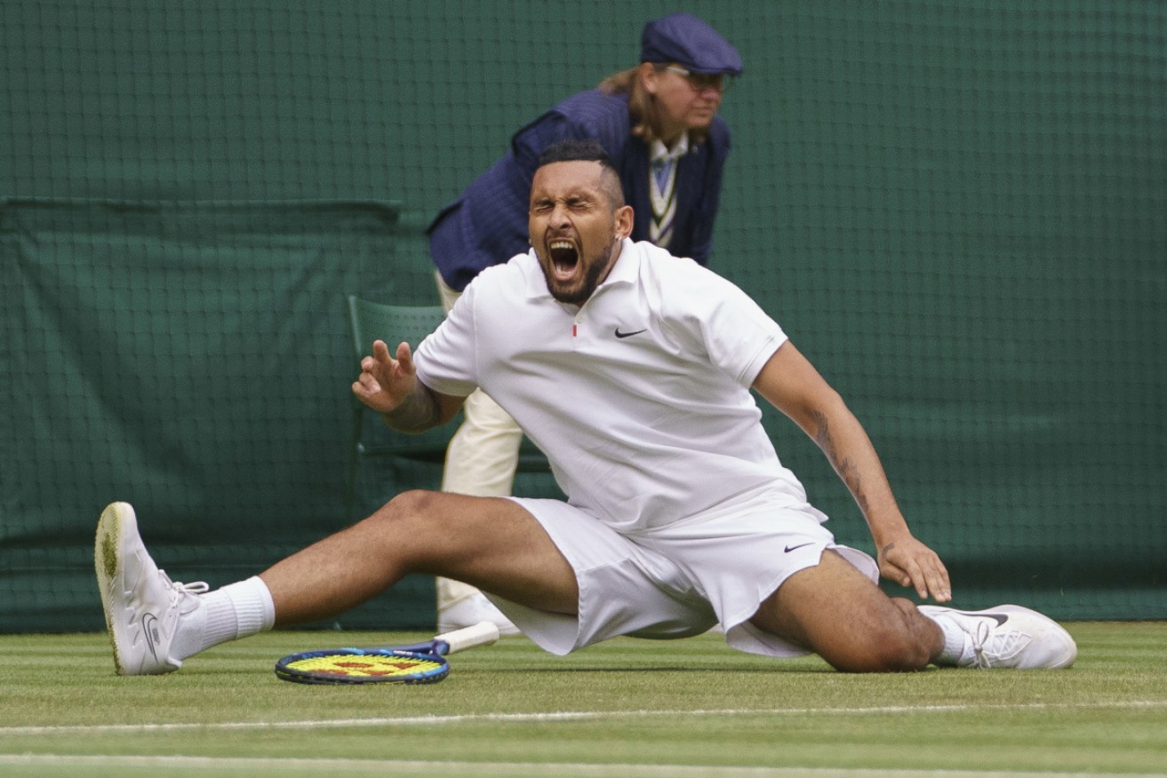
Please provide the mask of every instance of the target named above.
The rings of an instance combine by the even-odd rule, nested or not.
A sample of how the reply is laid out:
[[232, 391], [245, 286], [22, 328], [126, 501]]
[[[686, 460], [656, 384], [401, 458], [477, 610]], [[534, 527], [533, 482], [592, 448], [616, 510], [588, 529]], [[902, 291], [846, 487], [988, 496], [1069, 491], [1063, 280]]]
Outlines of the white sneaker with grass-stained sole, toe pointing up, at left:
[[175, 583], [158, 569], [138, 534], [134, 509], [112, 503], [97, 523], [93, 554], [105, 624], [119, 675], [156, 675], [182, 666], [170, 656], [183, 616], [201, 607], [207, 583]]

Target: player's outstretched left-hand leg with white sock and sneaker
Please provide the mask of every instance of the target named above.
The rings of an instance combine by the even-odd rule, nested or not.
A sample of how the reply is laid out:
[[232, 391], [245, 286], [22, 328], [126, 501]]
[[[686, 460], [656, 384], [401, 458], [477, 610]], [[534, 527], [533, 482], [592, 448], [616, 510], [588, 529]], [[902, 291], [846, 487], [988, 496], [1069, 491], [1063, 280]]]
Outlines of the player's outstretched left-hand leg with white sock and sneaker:
[[509, 499], [411, 491], [259, 576], [208, 591], [172, 581], [113, 503], [97, 528], [95, 566], [114, 667], [169, 673], [188, 657], [273, 625], [338, 615], [408, 573], [462, 579], [513, 602], [576, 612], [567, 560], [543, 526]]

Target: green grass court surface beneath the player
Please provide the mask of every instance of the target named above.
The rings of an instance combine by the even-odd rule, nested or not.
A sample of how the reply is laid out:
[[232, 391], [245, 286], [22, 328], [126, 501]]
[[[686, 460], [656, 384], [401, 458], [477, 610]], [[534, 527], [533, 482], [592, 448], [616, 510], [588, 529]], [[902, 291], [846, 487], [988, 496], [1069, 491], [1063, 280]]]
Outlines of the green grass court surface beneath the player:
[[1167, 776], [1167, 623], [1076, 622], [1069, 671], [846, 675], [719, 635], [558, 658], [522, 637], [432, 686], [301, 686], [277, 658], [418, 632], [270, 632], [119, 678], [104, 633], [0, 636], [0, 776]]

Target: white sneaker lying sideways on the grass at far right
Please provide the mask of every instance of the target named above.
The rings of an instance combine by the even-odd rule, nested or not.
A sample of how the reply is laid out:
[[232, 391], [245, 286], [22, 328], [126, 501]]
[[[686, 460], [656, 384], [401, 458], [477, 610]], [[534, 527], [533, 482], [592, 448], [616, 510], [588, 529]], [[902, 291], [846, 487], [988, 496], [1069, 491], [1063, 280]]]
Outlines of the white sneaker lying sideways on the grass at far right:
[[987, 610], [953, 610], [920, 605], [920, 612], [948, 619], [966, 635], [958, 667], [1069, 667], [1077, 659], [1074, 638], [1057, 622], [1021, 605]]

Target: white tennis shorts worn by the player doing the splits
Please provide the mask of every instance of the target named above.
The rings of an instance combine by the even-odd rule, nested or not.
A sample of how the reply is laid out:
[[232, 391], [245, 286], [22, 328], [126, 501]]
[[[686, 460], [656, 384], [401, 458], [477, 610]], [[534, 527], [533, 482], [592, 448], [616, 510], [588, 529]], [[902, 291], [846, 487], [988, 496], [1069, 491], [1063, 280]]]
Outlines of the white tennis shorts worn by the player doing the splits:
[[809, 653], [748, 622], [790, 575], [831, 548], [872, 581], [875, 560], [840, 546], [826, 517], [788, 495], [761, 492], [666, 527], [617, 533], [561, 500], [512, 497], [543, 525], [579, 582], [579, 614], [566, 616], [488, 595], [531, 640], [554, 654], [621, 635], [670, 639], [721, 624], [739, 651]]

